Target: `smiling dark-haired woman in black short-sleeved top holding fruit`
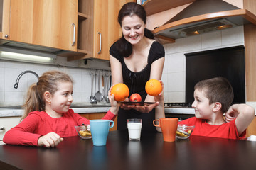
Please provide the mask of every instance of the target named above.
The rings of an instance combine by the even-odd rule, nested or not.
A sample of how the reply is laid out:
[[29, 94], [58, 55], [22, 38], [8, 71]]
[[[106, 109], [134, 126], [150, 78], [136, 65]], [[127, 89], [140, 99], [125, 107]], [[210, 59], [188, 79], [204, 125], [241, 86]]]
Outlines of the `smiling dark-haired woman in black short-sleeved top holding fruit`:
[[[146, 94], [145, 84], [149, 79], [161, 79], [164, 47], [146, 29], [146, 11], [139, 4], [124, 4], [119, 11], [118, 22], [122, 28], [122, 38], [110, 47], [112, 82], [126, 84], [130, 95], [138, 93], [142, 96], [142, 101], [155, 102], [153, 96]], [[122, 105], [117, 129], [127, 129], [127, 118], [142, 118], [142, 130], [155, 131], [153, 120], [164, 117], [163, 112], [156, 112], [155, 115], [155, 110], [164, 107], [158, 105], [158, 102], [150, 106]]]

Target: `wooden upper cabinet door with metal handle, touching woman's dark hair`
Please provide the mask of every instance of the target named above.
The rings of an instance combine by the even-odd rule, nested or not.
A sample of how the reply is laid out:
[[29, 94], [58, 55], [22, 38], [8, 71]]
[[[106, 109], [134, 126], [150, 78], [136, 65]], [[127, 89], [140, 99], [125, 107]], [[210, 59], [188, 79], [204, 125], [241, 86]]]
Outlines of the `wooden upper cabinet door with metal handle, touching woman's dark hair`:
[[95, 0], [93, 57], [110, 60], [110, 47], [122, 35], [117, 21], [118, 13], [129, 1], [134, 0]]

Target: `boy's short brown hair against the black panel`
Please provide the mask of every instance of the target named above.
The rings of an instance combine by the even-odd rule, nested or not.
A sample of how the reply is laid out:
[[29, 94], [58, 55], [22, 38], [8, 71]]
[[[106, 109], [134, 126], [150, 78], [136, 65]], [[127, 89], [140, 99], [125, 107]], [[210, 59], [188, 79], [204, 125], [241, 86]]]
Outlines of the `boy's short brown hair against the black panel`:
[[209, 104], [220, 102], [222, 106], [221, 111], [223, 113], [228, 111], [228, 108], [230, 107], [234, 98], [232, 86], [228, 79], [224, 77], [215, 77], [212, 79], [199, 81], [195, 85], [194, 89], [203, 91], [206, 98], [209, 99]]

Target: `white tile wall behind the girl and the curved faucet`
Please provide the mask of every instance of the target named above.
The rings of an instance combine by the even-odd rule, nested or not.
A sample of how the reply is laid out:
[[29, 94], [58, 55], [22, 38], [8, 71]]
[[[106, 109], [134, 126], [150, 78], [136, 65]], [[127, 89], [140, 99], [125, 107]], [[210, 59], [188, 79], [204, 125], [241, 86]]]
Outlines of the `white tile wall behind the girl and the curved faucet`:
[[[67, 62], [65, 57], [57, 57], [56, 63], [58, 65], [0, 60], [0, 106], [23, 104], [28, 87], [35, 83], [37, 78], [31, 73], [23, 74], [18, 83], [18, 89], [14, 89], [16, 79], [21, 72], [32, 70], [41, 76], [43, 72], [53, 69], [66, 72], [72, 77], [74, 103], [89, 103], [91, 95], [90, 69], [78, 67], [78, 61]], [[101, 62], [97, 61], [98, 67], [100, 64]], [[68, 67], [61, 67], [60, 65], [68, 65]], [[106, 69], [105, 62], [102, 65]], [[105, 101], [101, 103], [105, 103]]]

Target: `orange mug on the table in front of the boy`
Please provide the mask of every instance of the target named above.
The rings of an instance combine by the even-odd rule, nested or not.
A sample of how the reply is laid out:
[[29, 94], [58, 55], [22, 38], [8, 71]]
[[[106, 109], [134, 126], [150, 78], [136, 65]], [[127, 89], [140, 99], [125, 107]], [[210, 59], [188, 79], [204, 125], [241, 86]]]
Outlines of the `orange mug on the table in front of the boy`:
[[[159, 125], [156, 125], [155, 122], [159, 122]], [[178, 118], [160, 118], [160, 120], [153, 120], [153, 124], [154, 126], [161, 128], [164, 141], [175, 141], [176, 131], [178, 127]]]

